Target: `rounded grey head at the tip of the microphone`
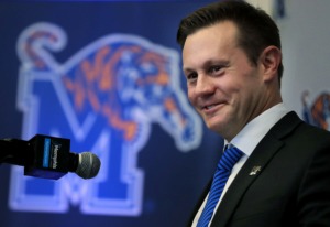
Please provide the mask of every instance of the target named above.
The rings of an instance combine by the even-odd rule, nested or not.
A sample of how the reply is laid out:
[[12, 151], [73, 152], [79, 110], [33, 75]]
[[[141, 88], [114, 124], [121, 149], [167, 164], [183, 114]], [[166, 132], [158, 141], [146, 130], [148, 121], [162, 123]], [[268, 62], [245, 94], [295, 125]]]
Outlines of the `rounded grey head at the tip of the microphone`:
[[96, 154], [82, 152], [78, 154], [78, 159], [77, 175], [82, 179], [92, 179], [99, 173], [101, 161]]

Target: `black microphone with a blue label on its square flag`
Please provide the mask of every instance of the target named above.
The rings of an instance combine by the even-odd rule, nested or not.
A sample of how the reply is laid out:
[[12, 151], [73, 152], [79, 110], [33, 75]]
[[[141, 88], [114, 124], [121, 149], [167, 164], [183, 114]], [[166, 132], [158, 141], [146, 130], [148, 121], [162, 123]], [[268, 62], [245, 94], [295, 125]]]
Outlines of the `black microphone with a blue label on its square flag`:
[[72, 153], [70, 140], [36, 134], [31, 140], [0, 140], [0, 164], [24, 166], [24, 175], [58, 180], [68, 172], [82, 179], [95, 177], [101, 166], [91, 152]]

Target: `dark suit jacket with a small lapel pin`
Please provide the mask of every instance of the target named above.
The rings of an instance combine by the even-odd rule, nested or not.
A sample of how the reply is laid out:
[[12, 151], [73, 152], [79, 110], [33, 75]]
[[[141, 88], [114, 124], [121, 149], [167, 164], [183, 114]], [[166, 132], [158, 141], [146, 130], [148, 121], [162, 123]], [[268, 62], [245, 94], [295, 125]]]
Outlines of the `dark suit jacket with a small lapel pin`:
[[330, 226], [330, 132], [295, 112], [280, 119], [216, 210], [211, 227], [224, 226]]

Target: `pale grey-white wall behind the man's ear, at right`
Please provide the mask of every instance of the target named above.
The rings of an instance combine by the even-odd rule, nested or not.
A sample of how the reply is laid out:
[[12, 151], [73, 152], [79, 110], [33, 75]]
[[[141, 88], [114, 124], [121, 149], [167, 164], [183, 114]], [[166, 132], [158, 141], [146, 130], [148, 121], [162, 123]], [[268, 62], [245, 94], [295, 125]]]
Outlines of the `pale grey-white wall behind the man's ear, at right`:
[[284, 102], [302, 111], [301, 95], [309, 90], [309, 102], [330, 90], [330, 1], [286, 0], [286, 17], [277, 20], [282, 34]]

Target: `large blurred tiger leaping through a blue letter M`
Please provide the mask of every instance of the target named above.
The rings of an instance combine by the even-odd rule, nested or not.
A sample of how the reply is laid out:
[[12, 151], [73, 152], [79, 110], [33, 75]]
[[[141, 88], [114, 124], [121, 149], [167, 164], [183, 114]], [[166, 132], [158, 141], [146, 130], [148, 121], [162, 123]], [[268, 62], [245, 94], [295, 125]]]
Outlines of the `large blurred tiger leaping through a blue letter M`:
[[75, 174], [45, 181], [12, 167], [10, 207], [65, 213], [75, 205], [84, 214], [139, 215], [144, 172], [138, 154], [152, 125], [160, 125], [182, 152], [201, 141], [201, 120], [180, 88], [178, 53], [141, 36], [110, 34], [59, 63], [52, 52], [62, 51], [66, 41], [51, 23], [33, 24], [19, 37], [22, 138], [69, 138], [73, 151], [92, 151], [102, 166], [89, 181]]

